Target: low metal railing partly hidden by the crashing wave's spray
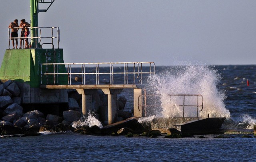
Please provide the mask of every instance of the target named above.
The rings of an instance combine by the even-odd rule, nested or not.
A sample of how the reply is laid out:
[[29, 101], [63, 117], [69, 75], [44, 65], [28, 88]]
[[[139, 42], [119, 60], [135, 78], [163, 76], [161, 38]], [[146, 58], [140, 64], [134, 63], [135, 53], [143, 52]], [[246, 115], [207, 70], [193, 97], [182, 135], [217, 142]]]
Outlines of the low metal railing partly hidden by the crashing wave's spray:
[[[140, 95], [138, 96], [138, 109], [139, 111], [142, 111], [144, 110], [144, 115], [146, 116], [146, 109], [147, 107], [159, 107], [160, 105], [149, 105], [146, 103], [146, 98], [147, 96], [159, 96], [159, 95]], [[204, 99], [203, 99], [203, 96], [200, 95], [200, 94], [168, 94], [168, 96], [183, 96], [183, 104], [182, 105], [176, 105], [176, 106], [179, 106], [179, 107], [183, 107], [183, 117], [185, 116], [185, 107], [196, 107], [196, 117], [198, 117], [198, 107], [201, 107], [201, 110], [203, 110], [203, 104], [204, 104]], [[196, 105], [185, 105], [185, 96], [197, 96], [196, 98]], [[144, 98], [143, 98], [144, 97]], [[202, 98], [202, 103], [199, 105], [198, 103], [198, 97], [201, 97]], [[141, 98], [141, 99], [140, 99]], [[141, 100], [141, 102], [140, 102]], [[140, 105], [141, 103], [141, 105]], [[140, 107], [142, 107], [140, 109]], [[156, 115], [156, 114], [155, 114]]]

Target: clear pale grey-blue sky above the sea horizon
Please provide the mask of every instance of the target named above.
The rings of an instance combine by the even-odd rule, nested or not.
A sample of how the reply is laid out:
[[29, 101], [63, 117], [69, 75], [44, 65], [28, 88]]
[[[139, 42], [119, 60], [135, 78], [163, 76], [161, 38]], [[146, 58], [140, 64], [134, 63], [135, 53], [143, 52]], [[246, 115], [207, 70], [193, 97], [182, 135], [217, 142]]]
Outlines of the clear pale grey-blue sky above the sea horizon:
[[[0, 62], [14, 19], [29, 0], [1, 0]], [[60, 28], [65, 63], [256, 63], [256, 0], [55, 0], [38, 26]]]

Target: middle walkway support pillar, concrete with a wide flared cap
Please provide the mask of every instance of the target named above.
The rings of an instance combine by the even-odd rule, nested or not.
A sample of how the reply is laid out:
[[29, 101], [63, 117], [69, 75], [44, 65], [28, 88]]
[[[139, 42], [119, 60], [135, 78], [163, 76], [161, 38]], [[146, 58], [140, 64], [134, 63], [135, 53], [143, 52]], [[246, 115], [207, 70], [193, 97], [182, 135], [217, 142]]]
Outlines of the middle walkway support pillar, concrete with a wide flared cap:
[[117, 94], [120, 94], [123, 89], [102, 89], [104, 94], [108, 95], [108, 125], [115, 123], [118, 117]]

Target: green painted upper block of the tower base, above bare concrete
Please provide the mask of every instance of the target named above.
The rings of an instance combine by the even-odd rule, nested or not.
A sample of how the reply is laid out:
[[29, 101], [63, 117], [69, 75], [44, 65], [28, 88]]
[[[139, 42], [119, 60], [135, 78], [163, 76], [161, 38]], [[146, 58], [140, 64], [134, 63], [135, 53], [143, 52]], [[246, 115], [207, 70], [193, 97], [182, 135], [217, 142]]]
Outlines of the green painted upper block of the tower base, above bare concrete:
[[[41, 63], [64, 63], [63, 49], [7, 49], [0, 68], [1, 80], [29, 84], [31, 88], [41, 85]], [[42, 68], [42, 71], [51, 72], [52, 65]], [[66, 73], [65, 66], [58, 66], [58, 72]], [[47, 79], [47, 80], [46, 80]], [[53, 84], [53, 76], [42, 77], [42, 84]], [[58, 84], [67, 84], [68, 77], [62, 75]]]

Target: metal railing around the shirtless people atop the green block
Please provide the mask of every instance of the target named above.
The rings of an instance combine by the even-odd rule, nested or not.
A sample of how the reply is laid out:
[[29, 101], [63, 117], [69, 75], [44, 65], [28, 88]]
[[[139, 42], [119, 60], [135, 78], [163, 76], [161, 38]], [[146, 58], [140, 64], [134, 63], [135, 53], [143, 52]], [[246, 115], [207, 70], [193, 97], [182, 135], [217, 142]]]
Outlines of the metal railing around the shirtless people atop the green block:
[[[57, 39], [57, 46], [59, 48], [60, 43], [60, 28], [59, 27], [26, 27], [31, 30], [35, 30], [36, 33], [35, 37], [10, 37], [10, 29], [22, 29], [23, 27], [12, 27], [8, 28], [8, 34], [9, 34], [9, 49], [10, 49], [10, 41], [11, 39], [33, 39], [35, 42], [36, 47], [35, 48], [42, 48], [43, 44], [51, 44], [52, 48], [54, 48], [54, 41], [53, 39]], [[42, 37], [42, 29], [51, 29], [51, 37]], [[54, 36], [54, 29], [57, 29], [57, 36]], [[39, 31], [39, 33], [38, 33]], [[37, 35], [38, 33], [38, 35]], [[31, 33], [30, 33], [31, 35]], [[42, 43], [41, 47], [38, 47], [38, 44], [42, 41], [42, 39], [52, 39], [51, 43]], [[24, 41], [23, 41], [23, 47], [24, 47]]]

